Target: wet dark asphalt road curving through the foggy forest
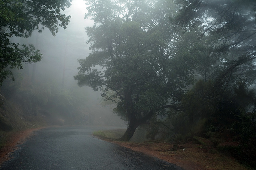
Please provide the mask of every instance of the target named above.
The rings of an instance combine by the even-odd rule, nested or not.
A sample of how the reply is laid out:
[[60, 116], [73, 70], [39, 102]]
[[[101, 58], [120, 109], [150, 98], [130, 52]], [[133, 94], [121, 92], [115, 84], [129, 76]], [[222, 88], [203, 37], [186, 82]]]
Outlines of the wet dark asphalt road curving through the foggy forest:
[[36, 131], [0, 170], [181, 170], [157, 158], [92, 136], [96, 127]]

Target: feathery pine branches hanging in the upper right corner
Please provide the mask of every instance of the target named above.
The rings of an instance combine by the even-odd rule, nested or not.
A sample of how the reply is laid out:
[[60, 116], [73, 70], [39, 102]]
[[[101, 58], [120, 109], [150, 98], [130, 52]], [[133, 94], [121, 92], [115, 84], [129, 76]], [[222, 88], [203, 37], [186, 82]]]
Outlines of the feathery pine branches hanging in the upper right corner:
[[[181, 0], [179, 2], [182, 3], [182, 10], [176, 17], [176, 23], [185, 31], [197, 32], [195, 38], [200, 45], [197, 47], [198, 43], [193, 45], [194, 49], [200, 52], [197, 58], [202, 56], [208, 59], [209, 64], [211, 62], [203, 70], [200, 65], [207, 64], [198, 62], [198, 73], [204, 76], [205, 80], [209, 80], [210, 74], [218, 76], [215, 77], [218, 78], [216, 86], [217, 83], [218, 86], [225, 86], [240, 81], [247, 86], [254, 84], [255, 1]], [[212, 71], [214, 68], [218, 68], [218, 74]], [[209, 78], [206, 78], [207, 75]]]

